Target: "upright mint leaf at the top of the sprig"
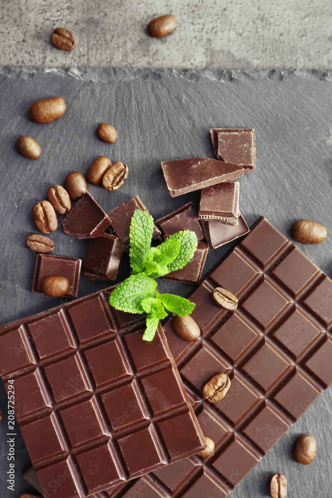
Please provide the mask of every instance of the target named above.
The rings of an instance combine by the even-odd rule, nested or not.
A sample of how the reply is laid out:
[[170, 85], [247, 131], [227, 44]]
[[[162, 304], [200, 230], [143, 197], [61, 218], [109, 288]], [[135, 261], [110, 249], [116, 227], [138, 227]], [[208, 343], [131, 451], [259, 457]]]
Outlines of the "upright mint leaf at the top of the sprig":
[[144, 263], [151, 246], [153, 233], [153, 218], [145, 211], [136, 209], [131, 218], [129, 231], [129, 257], [131, 273], [143, 271]]

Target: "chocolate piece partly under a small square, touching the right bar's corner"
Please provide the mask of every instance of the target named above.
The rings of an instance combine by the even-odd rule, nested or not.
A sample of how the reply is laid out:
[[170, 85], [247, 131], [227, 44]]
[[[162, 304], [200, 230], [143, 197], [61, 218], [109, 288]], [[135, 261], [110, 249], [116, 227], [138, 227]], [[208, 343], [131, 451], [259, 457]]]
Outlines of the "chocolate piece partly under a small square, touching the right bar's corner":
[[201, 223], [211, 249], [220, 248], [224, 244], [227, 244], [227, 242], [234, 241], [249, 232], [249, 227], [245, 223], [241, 213], [237, 218], [237, 225], [235, 226], [226, 225], [225, 223], [214, 220], [202, 220]]

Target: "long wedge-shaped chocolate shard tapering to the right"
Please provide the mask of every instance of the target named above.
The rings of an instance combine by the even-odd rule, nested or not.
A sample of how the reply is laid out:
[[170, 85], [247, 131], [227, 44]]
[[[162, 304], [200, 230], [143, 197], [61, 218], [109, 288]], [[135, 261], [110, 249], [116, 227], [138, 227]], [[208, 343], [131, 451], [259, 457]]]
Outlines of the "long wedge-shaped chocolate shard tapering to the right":
[[161, 161], [166, 185], [172, 197], [243, 176], [242, 166], [208, 157]]

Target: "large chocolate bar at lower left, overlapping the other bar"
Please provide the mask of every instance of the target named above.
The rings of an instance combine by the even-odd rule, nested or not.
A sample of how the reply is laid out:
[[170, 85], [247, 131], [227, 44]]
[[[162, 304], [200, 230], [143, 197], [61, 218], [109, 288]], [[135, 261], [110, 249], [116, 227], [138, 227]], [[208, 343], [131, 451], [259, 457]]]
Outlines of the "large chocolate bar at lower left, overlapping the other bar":
[[144, 318], [124, 324], [108, 295], [0, 328], [0, 373], [8, 392], [14, 384], [15, 414], [46, 496], [58, 476], [66, 485], [55, 497], [81, 498], [203, 448], [161, 326], [143, 342]]

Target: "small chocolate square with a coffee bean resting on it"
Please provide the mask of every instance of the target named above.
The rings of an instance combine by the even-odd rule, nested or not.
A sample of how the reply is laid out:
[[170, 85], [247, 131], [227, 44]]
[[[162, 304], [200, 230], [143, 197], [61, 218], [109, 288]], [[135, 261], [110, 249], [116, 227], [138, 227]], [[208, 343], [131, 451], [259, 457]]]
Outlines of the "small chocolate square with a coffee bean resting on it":
[[33, 275], [32, 292], [43, 293], [41, 284], [47, 277], [65, 277], [69, 280], [69, 291], [63, 297], [77, 297], [80, 282], [81, 259], [55, 256], [54, 254], [37, 254]]

